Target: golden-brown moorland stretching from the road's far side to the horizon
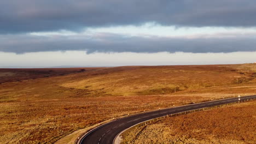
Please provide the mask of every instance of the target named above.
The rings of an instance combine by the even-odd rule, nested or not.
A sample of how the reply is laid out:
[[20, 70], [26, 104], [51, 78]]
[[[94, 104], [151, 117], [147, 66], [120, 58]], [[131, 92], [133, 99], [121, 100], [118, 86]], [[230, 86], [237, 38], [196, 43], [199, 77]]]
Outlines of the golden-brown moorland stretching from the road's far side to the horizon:
[[255, 94], [255, 76], [256, 64], [0, 69], [0, 143], [54, 143], [128, 113]]

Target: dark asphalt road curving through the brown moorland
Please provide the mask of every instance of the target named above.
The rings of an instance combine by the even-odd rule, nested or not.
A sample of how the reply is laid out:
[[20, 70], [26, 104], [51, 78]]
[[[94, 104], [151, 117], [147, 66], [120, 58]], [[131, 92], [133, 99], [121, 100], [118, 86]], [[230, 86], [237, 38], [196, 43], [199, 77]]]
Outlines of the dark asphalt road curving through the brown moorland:
[[[121, 131], [130, 128], [132, 125], [137, 123], [141, 123], [147, 121], [152, 118], [171, 115], [173, 113], [188, 111], [188, 110], [195, 110], [200, 109], [203, 107], [211, 107], [216, 105], [228, 104], [238, 101], [238, 97], [236, 98], [229, 98], [229, 99], [222, 99], [222, 100], [214, 100], [214, 101], [207, 101], [204, 103], [197, 103], [197, 104], [190, 104], [184, 105], [179, 107], [173, 107], [168, 109], [162, 109], [158, 111], [150, 111], [145, 113], [139, 113], [137, 115], [133, 115], [130, 117], [120, 118], [110, 123], [101, 125], [97, 127], [86, 135], [82, 137], [78, 141], [79, 144], [112, 144], [115, 136], [117, 136]], [[240, 101], [247, 100], [247, 99], [256, 99], [256, 95], [240, 97]]]

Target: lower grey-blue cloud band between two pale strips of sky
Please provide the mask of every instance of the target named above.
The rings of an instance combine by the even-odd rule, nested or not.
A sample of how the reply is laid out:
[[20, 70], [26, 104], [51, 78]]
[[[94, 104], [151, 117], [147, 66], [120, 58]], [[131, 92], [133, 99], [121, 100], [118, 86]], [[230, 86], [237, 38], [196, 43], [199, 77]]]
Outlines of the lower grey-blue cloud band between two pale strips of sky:
[[172, 38], [127, 37], [119, 34], [98, 33], [41, 37], [34, 35], [0, 35], [2, 52], [42, 52], [82, 50], [92, 52], [238, 52], [256, 51], [256, 34], [222, 35], [222, 37]]

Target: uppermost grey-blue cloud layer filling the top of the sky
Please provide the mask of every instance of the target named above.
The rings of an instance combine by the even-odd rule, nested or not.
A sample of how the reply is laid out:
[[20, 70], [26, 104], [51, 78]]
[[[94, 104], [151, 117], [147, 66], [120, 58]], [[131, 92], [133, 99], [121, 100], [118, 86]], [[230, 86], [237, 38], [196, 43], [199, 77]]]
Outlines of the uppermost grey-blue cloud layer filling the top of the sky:
[[0, 1], [0, 33], [140, 25], [255, 27], [252, 0]]

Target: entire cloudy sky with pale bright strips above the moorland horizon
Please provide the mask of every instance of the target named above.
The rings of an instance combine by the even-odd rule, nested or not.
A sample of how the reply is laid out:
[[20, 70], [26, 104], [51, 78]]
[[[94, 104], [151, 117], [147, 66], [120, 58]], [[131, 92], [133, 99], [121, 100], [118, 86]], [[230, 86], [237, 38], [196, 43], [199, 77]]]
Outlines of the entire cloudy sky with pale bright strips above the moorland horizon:
[[0, 68], [256, 62], [256, 1], [0, 1]]

